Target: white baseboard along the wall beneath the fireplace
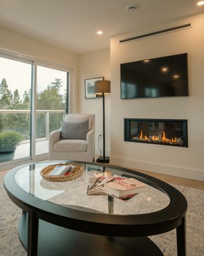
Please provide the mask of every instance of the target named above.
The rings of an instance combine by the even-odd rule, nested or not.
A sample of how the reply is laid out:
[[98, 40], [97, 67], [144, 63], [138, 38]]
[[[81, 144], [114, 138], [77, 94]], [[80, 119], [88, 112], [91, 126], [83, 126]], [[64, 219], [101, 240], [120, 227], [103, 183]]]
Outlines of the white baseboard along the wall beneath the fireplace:
[[157, 164], [133, 159], [117, 158], [115, 156], [110, 157], [110, 164], [120, 165], [137, 170], [152, 171], [153, 173], [166, 174], [185, 179], [204, 181], [204, 170], [182, 168], [179, 166]]

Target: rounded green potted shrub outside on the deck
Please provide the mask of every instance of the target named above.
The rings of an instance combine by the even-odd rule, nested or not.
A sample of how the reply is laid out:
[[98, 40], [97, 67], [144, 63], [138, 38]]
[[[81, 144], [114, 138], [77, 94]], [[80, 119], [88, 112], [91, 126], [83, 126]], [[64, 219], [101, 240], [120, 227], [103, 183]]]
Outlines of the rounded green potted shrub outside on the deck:
[[22, 139], [22, 135], [16, 132], [0, 133], [0, 152], [14, 151]]

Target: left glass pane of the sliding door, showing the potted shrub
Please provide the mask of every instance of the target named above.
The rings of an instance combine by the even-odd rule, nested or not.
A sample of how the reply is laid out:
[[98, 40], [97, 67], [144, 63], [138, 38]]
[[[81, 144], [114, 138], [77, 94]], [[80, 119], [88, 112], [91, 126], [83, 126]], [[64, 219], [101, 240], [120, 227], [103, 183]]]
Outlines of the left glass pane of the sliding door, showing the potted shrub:
[[0, 165], [30, 157], [31, 62], [0, 58]]

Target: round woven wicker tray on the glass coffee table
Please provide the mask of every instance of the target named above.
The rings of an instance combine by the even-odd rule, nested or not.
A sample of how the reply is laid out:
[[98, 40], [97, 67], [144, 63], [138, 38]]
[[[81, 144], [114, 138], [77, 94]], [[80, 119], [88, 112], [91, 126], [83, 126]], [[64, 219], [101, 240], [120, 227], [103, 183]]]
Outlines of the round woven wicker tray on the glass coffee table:
[[[69, 165], [71, 163], [66, 163], [66, 164], [60, 164], [60, 165]], [[74, 169], [71, 171], [69, 175], [49, 175], [52, 169], [55, 168], [59, 164], [53, 164], [45, 167], [40, 171], [41, 176], [43, 179], [47, 181], [52, 181], [52, 182], [61, 182], [61, 181], [69, 181], [69, 180], [75, 180], [78, 177], [80, 177], [83, 174], [84, 171], [84, 166], [80, 164], [73, 164]]]

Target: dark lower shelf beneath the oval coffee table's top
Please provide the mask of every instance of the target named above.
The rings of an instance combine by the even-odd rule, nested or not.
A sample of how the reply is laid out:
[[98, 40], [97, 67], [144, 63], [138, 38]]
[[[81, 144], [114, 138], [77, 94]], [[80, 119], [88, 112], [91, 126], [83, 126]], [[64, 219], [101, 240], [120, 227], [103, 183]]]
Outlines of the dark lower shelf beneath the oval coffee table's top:
[[[27, 251], [28, 214], [18, 224], [20, 242]], [[163, 256], [148, 237], [108, 237], [73, 231], [39, 220], [38, 256]]]

